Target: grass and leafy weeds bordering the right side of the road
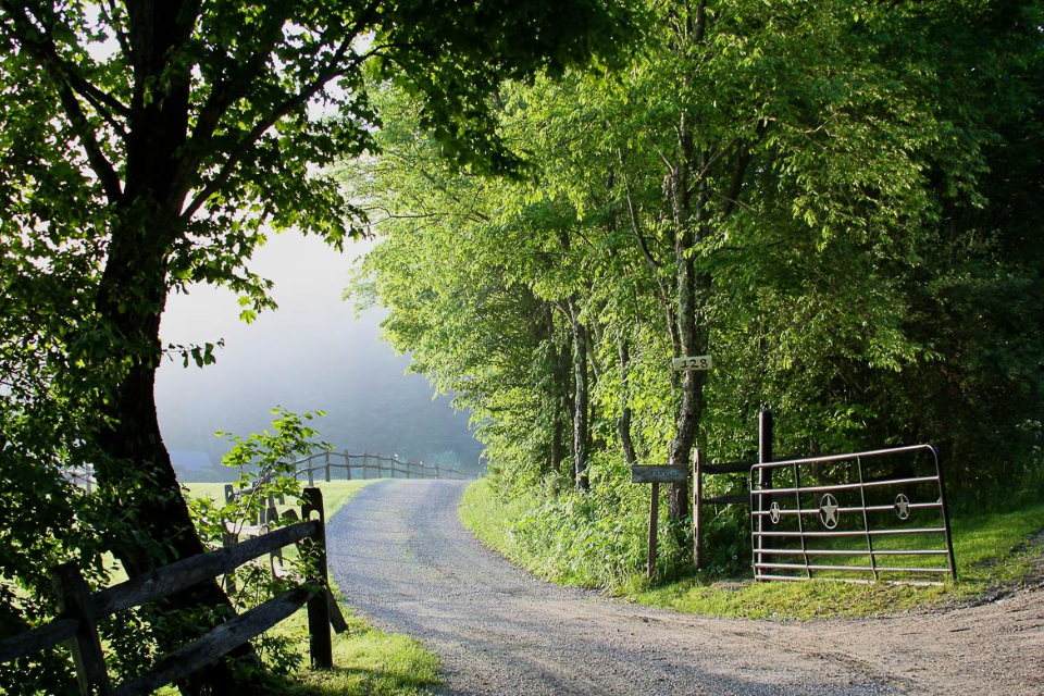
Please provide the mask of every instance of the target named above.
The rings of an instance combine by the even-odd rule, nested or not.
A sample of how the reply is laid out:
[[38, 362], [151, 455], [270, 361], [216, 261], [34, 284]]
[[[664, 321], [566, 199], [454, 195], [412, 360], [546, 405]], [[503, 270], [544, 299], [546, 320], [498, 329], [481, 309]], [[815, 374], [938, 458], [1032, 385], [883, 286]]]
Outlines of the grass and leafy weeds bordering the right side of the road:
[[[559, 518], [549, 519], [547, 514]], [[953, 538], [959, 582], [930, 587], [825, 580], [755, 583], [749, 575], [723, 577], [710, 573], [649, 583], [642, 572], [644, 534], [627, 560], [608, 558], [610, 545], [592, 542], [607, 535], [607, 519], [626, 514], [635, 518], [630, 524], [637, 527], [645, 524], [648, 512], [571, 514], [568, 506], [556, 508], [536, 496], [502, 500], [488, 481], [469, 487], [460, 505], [461, 520], [483, 543], [542, 577], [600, 587], [634, 601], [688, 613], [800, 620], [871, 617], [973, 601], [997, 587], [1031, 579], [1040, 582], [1040, 569], [1034, 571], [1033, 563], [1041, 557], [1042, 544], [1034, 535], [1044, 527], [1044, 502], [1006, 512], [955, 517]], [[634, 536], [625, 521], [620, 522], [620, 530], [624, 536]], [[664, 532], [661, 527], [661, 536]], [[569, 537], [576, 542], [570, 544]], [[549, 539], [554, 539], [550, 545]], [[678, 567], [679, 560], [672, 563]], [[610, 572], [612, 568], [618, 572]]]

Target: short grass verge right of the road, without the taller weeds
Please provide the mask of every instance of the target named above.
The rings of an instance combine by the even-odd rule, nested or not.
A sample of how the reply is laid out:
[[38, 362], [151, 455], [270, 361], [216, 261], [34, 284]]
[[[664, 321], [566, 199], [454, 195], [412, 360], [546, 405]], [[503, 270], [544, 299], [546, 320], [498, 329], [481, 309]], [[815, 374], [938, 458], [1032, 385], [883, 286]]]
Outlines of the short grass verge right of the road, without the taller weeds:
[[[510, 534], [511, 521], [525, 513], [524, 504], [497, 499], [487, 482], [469, 487], [460, 506], [464, 525], [483, 543], [517, 564], [554, 579], [546, 555], [521, 547]], [[969, 601], [993, 587], [1027, 577], [1032, 561], [1041, 554], [1040, 539], [1029, 539], [1044, 527], [1044, 502], [1004, 513], [958, 517], [952, 527], [957, 584], [913, 587], [826, 580], [754, 583], [749, 577], [695, 574], [650, 585], [636, 573], [608, 591], [633, 601], [688, 613], [803, 620], [880, 616]]]

